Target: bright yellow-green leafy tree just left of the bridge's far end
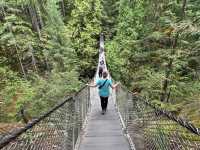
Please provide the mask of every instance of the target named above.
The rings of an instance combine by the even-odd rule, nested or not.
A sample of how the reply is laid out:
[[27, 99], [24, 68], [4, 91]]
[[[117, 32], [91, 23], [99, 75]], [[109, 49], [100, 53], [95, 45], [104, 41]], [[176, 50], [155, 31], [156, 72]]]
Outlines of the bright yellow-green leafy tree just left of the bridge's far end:
[[99, 0], [75, 0], [69, 20], [73, 48], [79, 58], [82, 78], [93, 77], [98, 60], [97, 43], [101, 32], [101, 3]]

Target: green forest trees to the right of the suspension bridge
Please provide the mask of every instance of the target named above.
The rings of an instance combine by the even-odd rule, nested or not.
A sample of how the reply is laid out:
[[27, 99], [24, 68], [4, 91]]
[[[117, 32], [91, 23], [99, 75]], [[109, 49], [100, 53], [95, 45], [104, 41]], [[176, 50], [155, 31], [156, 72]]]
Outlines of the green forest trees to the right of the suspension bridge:
[[200, 92], [198, 4], [187, 1], [183, 9], [182, 1], [120, 0], [117, 33], [106, 45], [114, 78], [195, 123], [198, 108], [192, 104], [199, 104]]

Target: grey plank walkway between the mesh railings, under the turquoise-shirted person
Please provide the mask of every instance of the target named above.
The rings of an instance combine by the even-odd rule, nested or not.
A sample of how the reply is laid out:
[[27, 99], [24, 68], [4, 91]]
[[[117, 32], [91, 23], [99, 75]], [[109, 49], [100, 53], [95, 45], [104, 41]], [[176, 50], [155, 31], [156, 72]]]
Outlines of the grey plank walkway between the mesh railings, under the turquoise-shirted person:
[[100, 100], [96, 89], [91, 89], [91, 113], [81, 138], [79, 150], [129, 150], [122, 133], [118, 113], [114, 106], [115, 96], [110, 97], [108, 110], [101, 114]]

